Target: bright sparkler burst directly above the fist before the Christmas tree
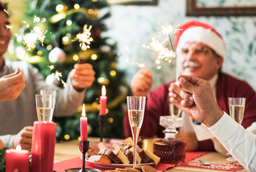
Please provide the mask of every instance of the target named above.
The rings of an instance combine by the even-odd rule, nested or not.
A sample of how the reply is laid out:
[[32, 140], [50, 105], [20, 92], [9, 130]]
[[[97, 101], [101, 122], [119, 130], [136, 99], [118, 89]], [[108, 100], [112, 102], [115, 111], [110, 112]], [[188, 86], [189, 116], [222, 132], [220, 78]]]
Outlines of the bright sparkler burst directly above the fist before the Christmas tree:
[[81, 42], [80, 47], [82, 48], [82, 50], [87, 50], [87, 48], [90, 48], [89, 44], [91, 44], [91, 42], [94, 40], [91, 37], [91, 32], [90, 32], [91, 27], [92, 26], [89, 26], [89, 28], [87, 28], [87, 25], [83, 26], [83, 33], [77, 34], [75, 39], [72, 40], [72, 42], [75, 42], [75, 41]]

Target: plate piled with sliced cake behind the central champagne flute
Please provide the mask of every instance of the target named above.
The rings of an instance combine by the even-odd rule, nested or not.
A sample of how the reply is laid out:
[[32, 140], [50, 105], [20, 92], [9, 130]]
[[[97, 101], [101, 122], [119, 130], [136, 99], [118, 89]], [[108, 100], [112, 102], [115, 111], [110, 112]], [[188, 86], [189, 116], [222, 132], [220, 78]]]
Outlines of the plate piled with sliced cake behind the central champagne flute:
[[[131, 144], [130, 144], [131, 143]], [[99, 142], [97, 146], [90, 146], [86, 152], [86, 162], [102, 168], [130, 168], [133, 167], [134, 146], [127, 139], [119, 144], [105, 146]], [[157, 165], [160, 158], [137, 146], [137, 165]], [[82, 158], [82, 157], [81, 157]]]

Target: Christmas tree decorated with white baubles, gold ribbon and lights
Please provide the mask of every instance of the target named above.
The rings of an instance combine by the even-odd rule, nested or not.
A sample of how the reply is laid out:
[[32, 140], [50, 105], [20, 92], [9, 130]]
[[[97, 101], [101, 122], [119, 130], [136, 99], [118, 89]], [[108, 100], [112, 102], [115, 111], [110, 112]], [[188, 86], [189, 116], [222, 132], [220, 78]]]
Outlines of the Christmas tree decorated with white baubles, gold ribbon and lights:
[[[102, 94], [102, 85], [105, 85], [108, 96], [107, 122], [104, 128], [104, 138], [124, 138], [122, 120], [126, 103], [127, 84], [124, 72], [116, 69], [118, 52], [115, 44], [108, 44], [108, 38], [102, 38], [102, 31], [106, 31], [104, 20], [110, 17], [110, 12], [102, 14], [102, 9], [108, 9], [106, 1], [99, 0], [29, 0], [23, 16], [16, 40], [16, 53], [39, 69], [46, 77], [48, 84], [63, 87], [64, 84], [56, 80], [54, 74], [61, 72], [61, 79], [67, 81], [69, 71], [78, 60], [82, 63], [91, 63], [94, 68], [94, 84], [87, 88], [84, 103], [89, 122], [89, 136], [99, 136], [99, 96]], [[106, 10], [105, 10], [106, 11]], [[107, 10], [108, 11], [108, 10]], [[91, 27], [91, 37], [94, 41], [87, 46], [80, 46], [80, 42], [72, 41], [83, 28]], [[41, 33], [45, 40], [37, 42], [26, 51], [23, 45], [25, 34]], [[22, 52], [22, 53], [21, 53]], [[54, 69], [50, 70], [50, 66]], [[72, 117], [55, 117], [57, 123], [57, 140], [65, 141], [80, 136], [81, 108]]]

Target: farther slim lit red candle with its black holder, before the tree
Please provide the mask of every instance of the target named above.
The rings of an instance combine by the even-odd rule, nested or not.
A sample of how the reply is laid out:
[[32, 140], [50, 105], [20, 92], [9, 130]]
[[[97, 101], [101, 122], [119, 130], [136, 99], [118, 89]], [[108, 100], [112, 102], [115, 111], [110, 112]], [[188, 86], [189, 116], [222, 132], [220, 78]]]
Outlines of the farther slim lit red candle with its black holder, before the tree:
[[107, 96], [106, 96], [106, 88], [105, 85], [102, 86], [102, 95], [99, 97], [100, 99], [100, 108], [99, 108], [99, 126], [100, 126], [100, 141], [102, 141], [103, 138], [103, 127], [105, 125], [105, 122], [107, 120], [106, 117], [106, 104], [107, 104]]

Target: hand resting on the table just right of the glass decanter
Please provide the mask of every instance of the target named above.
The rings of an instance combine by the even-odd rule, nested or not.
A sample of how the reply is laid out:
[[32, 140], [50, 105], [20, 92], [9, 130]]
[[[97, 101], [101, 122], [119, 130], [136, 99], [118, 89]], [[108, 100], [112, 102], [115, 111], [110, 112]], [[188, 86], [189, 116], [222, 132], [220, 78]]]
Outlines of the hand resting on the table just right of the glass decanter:
[[187, 151], [189, 151], [189, 152], [197, 151], [198, 141], [197, 141], [197, 136], [195, 136], [194, 132], [178, 133], [176, 135], [176, 138], [179, 141], [182, 141], [185, 144], [187, 144]]

